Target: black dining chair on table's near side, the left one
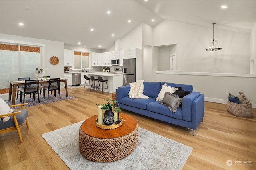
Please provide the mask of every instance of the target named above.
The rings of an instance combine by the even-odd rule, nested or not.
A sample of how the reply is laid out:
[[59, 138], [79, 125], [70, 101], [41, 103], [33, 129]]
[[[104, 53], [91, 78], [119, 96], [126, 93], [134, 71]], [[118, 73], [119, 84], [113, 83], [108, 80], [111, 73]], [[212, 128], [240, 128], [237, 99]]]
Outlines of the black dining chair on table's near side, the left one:
[[39, 80], [25, 80], [24, 89], [20, 90], [20, 102], [22, 102], [22, 95], [23, 96], [23, 103], [25, 102], [25, 94], [33, 94], [34, 100], [36, 100], [36, 93], [38, 96], [38, 103], [39, 100]]

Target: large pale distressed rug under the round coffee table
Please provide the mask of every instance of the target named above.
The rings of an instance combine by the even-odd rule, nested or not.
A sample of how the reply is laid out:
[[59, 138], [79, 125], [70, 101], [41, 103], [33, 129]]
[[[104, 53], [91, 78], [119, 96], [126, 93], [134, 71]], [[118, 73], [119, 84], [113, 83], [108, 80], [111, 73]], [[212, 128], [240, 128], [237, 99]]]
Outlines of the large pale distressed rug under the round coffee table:
[[139, 127], [137, 147], [129, 156], [115, 162], [93, 162], [79, 151], [82, 122], [42, 135], [71, 170], [181, 170], [193, 149]]

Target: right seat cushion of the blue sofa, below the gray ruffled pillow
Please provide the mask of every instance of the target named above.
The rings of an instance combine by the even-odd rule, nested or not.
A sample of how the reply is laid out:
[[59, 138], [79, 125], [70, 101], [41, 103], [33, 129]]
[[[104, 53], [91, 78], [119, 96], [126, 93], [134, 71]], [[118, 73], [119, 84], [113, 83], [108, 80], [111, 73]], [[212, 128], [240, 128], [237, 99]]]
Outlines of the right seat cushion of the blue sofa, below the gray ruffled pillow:
[[160, 104], [160, 101], [154, 101], [147, 104], [147, 110], [155, 113], [159, 113], [161, 115], [166, 115], [169, 117], [173, 117], [175, 119], [182, 119], [182, 110], [181, 107], [178, 107], [175, 113], [172, 113], [168, 107]]

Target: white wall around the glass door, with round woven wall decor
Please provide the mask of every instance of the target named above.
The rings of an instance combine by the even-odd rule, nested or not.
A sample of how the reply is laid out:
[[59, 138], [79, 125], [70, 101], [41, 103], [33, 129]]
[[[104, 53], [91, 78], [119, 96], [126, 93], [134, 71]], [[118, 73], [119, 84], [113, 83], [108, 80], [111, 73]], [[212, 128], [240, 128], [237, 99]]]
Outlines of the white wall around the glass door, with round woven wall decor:
[[[29, 37], [21, 37], [21, 36], [8, 35], [8, 34], [2, 34], [2, 33], [0, 33], [0, 38], [6, 39], [6, 40], [12, 40], [12, 41], [20, 41], [25, 43], [28, 42], [28, 44], [30, 43], [45, 44], [43, 74], [46, 76], [51, 76], [51, 78], [63, 78], [64, 76], [63, 75], [63, 63], [64, 63], [64, 43], [63, 42], [29, 38]], [[60, 62], [56, 65], [52, 65], [50, 63], [50, 58], [52, 56], [58, 57]]]

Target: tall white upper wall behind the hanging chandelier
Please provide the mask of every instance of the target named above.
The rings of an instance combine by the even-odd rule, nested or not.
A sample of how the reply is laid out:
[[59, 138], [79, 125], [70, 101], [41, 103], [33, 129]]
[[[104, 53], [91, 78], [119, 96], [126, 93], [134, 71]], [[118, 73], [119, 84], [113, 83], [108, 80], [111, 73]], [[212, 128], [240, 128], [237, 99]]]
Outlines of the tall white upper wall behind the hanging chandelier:
[[177, 44], [177, 70], [183, 72], [249, 74], [250, 35], [214, 26], [214, 40], [222, 50], [205, 51], [212, 41], [212, 27], [166, 20], [153, 29], [154, 46]]

